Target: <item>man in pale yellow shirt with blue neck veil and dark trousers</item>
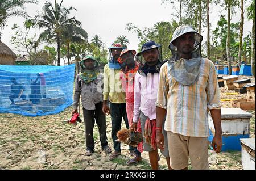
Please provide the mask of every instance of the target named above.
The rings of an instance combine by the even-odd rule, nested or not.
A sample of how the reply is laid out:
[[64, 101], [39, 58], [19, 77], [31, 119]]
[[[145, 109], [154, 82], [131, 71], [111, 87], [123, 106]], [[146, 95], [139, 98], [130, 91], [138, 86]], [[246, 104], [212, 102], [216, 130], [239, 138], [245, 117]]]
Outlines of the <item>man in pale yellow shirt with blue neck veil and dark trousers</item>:
[[[117, 140], [117, 132], [121, 129], [122, 119], [125, 120], [126, 128], [129, 128], [126, 115], [126, 100], [125, 91], [122, 90], [122, 83], [120, 80], [121, 66], [118, 64], [118, 57], [122, 49], [125, 48], [119, 43], [113, 43], [109, 47], [110, 60], [104, 66], [104, 89], [103, 89], [103, 107], [102, 111], [105, 115], [111, 115], [112, 123], [112, 140], [114, 145], [114, 153], [110, 155], [109, 159], [113, 160], [121, 155], [121, 143]], [[109, 99], [110, 108], [106, 104]], [[133, 147], [129, 147], [130, 154], [133, 153]]]

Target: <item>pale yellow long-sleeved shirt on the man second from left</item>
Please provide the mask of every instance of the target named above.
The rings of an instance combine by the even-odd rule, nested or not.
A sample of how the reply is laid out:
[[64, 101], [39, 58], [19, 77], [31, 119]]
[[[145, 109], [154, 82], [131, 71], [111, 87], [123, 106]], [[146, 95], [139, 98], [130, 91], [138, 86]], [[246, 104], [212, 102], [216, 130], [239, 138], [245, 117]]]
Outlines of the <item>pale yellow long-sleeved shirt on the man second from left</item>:
[[104, 66], [103, 100], [109, 99], [111, 103], [115, 104], [126, 103], [120, 73], [121, 69], [110, 69], [109, 64]]

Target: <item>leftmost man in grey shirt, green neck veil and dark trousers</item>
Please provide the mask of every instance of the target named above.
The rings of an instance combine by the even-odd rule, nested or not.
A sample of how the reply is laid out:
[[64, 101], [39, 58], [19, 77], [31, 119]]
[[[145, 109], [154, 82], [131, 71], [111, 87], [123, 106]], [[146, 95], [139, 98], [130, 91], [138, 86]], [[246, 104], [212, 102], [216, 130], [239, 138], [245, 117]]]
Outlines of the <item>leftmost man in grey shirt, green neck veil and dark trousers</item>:
[[85, 155], [90, 156], [94, 152], [93, 128], [95, 121], [100, 133], [101, 148], [105, 153], [111, 153], [106, 136], [106, 116], [102, 112], [103, 74], [98, 70], [97, 60], [91, 55], [85, 56], [80, 61], [80, 66], [82, 71], [76, 76], [72, 116], [77, 112], [81, 95], [85, 125]]

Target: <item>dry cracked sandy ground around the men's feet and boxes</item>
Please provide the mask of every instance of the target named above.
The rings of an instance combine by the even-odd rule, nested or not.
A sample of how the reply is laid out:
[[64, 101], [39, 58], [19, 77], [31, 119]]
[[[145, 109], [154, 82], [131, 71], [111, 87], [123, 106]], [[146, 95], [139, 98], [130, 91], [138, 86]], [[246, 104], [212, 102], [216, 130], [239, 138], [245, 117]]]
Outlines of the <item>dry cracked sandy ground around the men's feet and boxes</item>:
[[[242, 78], [246, 77], [240, 76]], [[252, 82], [255, 82], [255, 78], [252, 78]], [[225, 90], [225, 87], [221, 87], [220, 91], [221, 99], [246, 99], [246, 94], [226, 95], [234, 90]], [[223, 102], [223, 107], [232, 105]], [[91, 157], [86, 157], [84, 124], [73, 127], [62, 122], [69, 119], [71, 111], [72, 107], [68, 107], [57, 115], [42, 117], [0, 114], [0, 169], [150, 169], [146, 152], [142, 153], [142, 162], [127, 166], [126, 161], [131, 157], [128, 146], [124, 144], [121, 144], [122, 155], [109, 161], [109, 155], [101, 150], [97, 126], [94, 129], [95, 152]], [[255, 138], [255, 110], [248, 112], [253, 114], [250, 137]], [[107, 134], [109, 146], [113, 148], [110, 116], [107, 117]], [[241, 151], [212, 154], [209, 150], [209, 162], [213, 170], [241, 170]], [[159, 165], [160, 169], [168, 168], [163, 155], [160, 155]]]

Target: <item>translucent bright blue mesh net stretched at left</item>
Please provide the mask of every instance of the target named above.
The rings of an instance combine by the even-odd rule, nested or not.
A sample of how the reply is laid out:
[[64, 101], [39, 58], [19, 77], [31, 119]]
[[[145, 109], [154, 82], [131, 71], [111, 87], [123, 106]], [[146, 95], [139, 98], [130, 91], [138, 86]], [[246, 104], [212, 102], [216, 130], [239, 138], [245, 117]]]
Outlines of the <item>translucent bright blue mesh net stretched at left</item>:
[[43, 116], [73, 103], [75, 65], [0, 65], [0, 113]]

